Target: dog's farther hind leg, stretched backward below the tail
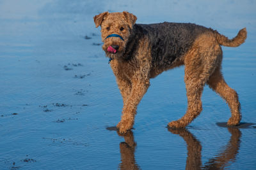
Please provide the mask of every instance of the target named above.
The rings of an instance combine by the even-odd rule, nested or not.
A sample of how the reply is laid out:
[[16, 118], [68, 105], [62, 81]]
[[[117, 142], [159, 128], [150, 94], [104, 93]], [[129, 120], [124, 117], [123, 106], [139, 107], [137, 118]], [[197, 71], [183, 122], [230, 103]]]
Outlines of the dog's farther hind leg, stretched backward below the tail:
[[240, 103], [237, 92], [231, 89], [225, 82], [220, 67], [217, 67], [209, 81], [209, 87], [227, 101], [232, 116], [229, 118], [228, 125], [238, 125], [241, 120]]

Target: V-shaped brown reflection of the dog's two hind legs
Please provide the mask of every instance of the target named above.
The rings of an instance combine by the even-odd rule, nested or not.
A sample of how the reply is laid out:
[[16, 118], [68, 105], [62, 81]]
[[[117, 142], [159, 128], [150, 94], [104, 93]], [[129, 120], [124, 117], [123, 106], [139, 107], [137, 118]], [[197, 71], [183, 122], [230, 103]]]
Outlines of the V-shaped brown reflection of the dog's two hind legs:
[[230, 141], [221, 152], [202, 165], [201, 150], [202, 146], [191, 132], [187, 129], [168, 129], [173, 134], [179, 134], [187, 143], [188, 157], [186, 169], [224, 169], [229, 166], [228, 162], [234, 161], [240, 146], [241, 132], [236, 127], [228, 127], [231, 134]]

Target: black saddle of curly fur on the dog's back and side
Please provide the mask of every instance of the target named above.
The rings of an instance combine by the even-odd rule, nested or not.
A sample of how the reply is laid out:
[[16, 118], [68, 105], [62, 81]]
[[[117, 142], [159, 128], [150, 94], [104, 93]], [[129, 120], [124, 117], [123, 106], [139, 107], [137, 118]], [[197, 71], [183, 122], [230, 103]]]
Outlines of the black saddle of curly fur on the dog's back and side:
[[136, 52], [135, 42], [147, 36], [151, 46], [152, 67], [169, 67], [175, 59], [188, 52], [200, 34], [211, 30], [196, 24], [172, 22], [135, 24], [124, 57], [131, 57], [132, 52]]

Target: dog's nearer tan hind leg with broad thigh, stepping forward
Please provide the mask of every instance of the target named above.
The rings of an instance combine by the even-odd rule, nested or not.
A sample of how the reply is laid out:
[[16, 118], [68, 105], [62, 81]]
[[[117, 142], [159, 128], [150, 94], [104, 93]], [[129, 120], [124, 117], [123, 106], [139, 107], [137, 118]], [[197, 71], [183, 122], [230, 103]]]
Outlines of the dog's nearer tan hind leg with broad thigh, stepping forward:
[[186, 127], [202, 111], [201, 96], [204, 85], [209, 80], [209, 77], [216, 68], [216, 62], [221, 57], [221, 48], [219, 45], [212, 41], [208, 45], [205, 41], [203, 43], [203, 45], [194, 46], [188, 55], [185, 56], [184, 81], [186, 84], [188, 108], [184, 117], [170, 122], [168, 124], [169, 127]]

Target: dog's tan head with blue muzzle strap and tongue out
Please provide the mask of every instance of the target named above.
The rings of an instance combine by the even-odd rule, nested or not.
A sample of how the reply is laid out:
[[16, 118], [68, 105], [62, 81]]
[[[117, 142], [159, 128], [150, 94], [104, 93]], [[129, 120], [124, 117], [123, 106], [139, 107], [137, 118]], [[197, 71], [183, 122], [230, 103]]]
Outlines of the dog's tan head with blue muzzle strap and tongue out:
[[122, 56], [137, 17], [127, 11], [122, 13], [106, 11], [93, 18], [96, 27], [101, 27], [101, 38], [104, 43], [102, 49], [106, 55], [112, 59]]

